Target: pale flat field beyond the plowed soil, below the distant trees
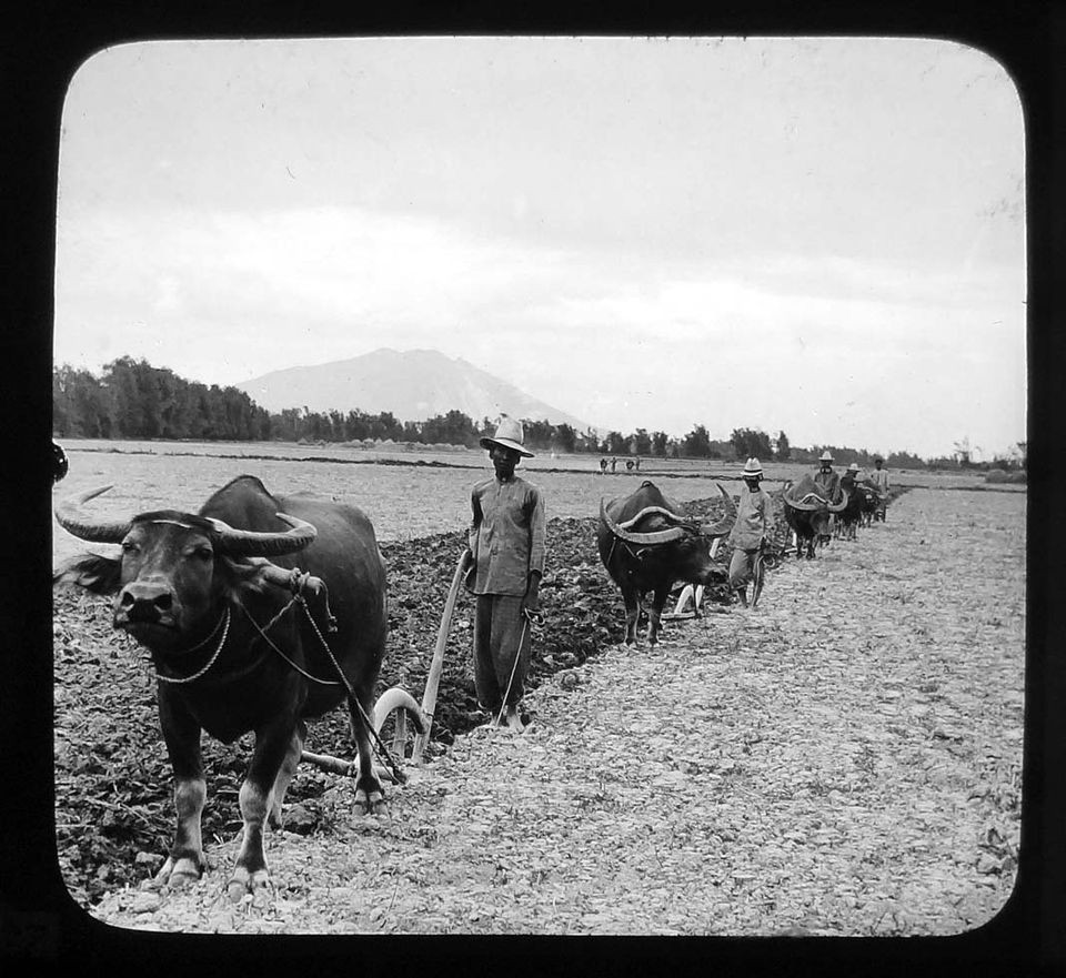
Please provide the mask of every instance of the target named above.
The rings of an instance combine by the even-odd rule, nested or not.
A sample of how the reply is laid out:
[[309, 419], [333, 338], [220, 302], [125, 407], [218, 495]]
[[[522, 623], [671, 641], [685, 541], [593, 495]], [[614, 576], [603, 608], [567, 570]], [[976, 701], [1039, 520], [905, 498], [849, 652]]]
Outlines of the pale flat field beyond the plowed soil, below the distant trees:
[[[374, 452], [291, 443], [193, 443], [64, 441], [70, 474], [57, 495], [113, 484], [93, 501], [101, 516], [127, 516], [155, 508], [195, 512], [212, 492], [244, 473], [258, 475], [280, 494], [315, 492], [363, 508], [382, 541], [411, 540], [465, 527], [470, 522], [470, 488], [492, 474], [486, 453]], [[524, 460], [519, 474], [544, 490], [549, 518], [594, 516], [601, 496], [632, 491], [641, 480], [657, 480], [678, 502], [717, 495], [715, 480], [726, 487], [740, 476], [740, 465], [644, 458], [640, 472], [601, 476], [599, 456], [539, 455]], [[809, 466], [766, 464], [767, 490], [797, 478]], [[893, 473], [905, 486], [941, 488], [984, 486], [969, 475]], [[1004, 486], [1005, 491], [1012, 487]], [[1024, 488], [1022, 490], [1024, 492]], [[59, 527], [53, 559], [81, 553], [84, 544]]]

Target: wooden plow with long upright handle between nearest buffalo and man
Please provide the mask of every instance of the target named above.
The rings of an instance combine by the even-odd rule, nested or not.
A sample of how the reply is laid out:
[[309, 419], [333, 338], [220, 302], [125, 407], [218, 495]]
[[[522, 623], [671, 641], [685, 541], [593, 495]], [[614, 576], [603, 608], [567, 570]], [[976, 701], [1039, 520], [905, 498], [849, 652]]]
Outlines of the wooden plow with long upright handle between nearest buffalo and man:
[[[421, 705], [415, 698], [400, 686], [392, 686], [378, 698], [374, 704], [371, 716], [371, 725], [374, 735], [380, 735], [385, 725], [385, 720], [395, 714], [392, 734], [392, 744], [390, 753], [398, 760], [404, 758], [409, 734], [408, 718], [412, 720], [414, 727], [414, 740], [411, 749], [411, 762], [420, 764], [425, 746], [430, 742], [430, 733], [433, 728], [433, 713], [436, 709], [436, 690], [441, 683], [441, 671], [444, 667], [444, 647], [447, 645], [447, 634], [452, 625], [452, 615], [455, 612], [455, 599], [459, 596], [459, 587], [463, 581], [463, 574], [466, 571], [467, 552], [463, 552], [455, 565], [455, 573], [452, 575], [452, 585], [447, 592], [447, 598], [444, 602], [444, 611], [441, 614], [441, 624], [436, 631], [436, 645], [433, 649], [433, 662], [430, 664], [430, 672], [425, 678], [425, 690], [422, 694]], [[374, 739], [372, 737], [371, 739]], [[323, 770], [340, 775], [358, 775], [359, 758], [344, 760], [340, 757], [332, 757], [329, 754], [313, 754], [304, 750], [301, 760], [306, 760]], [[395, 784], [396, 777], [388, 765], [374, 765], [374, 773], [382, 780]]]

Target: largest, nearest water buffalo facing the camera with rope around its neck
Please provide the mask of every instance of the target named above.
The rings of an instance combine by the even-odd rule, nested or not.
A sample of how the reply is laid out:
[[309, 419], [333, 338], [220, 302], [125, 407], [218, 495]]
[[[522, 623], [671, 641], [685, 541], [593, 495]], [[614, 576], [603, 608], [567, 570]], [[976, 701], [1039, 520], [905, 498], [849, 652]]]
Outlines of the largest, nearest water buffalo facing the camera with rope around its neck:
[[[272, 496], [248, 475], [217, 492], [198, 515], [162, 510], [121, 522], [93, 520], [83, 507], [108, 488], [66, 501], [56, 517], [82, 540], [121, 544], [121, 555], [78, 557], [56, 572], [56, 583], [117, 593], [114, 627], [151, 653], [178, 811], [160, 881], [187, 883], [205, 868], [201, 729], [225, 743], [254, 730], [240, 790], [243, 839], [228, 884], [238, 899], [269, 883], [264, 821], [281, 825], [305, 720], [345, 698], [338, 668], [365, 717], [372, 715], [386, 633], [385, 568], [374, 528], [352, 506]], [[284, 611], [296, 579], [289, 555], [298, 552], [302, 571], [314, 575], [305, 591], [318, 597], [318, 615], [311, 602], [308, 612], [299, 603]], [[326, 591], [332, 632], [322, 601]], [[420, 723], [418, 704], [406, 696], [403, 705]], [[354, 707], [352, 727], [360, 770], [355, 803], [373, 811], [382, 789], [366, 722]]]

